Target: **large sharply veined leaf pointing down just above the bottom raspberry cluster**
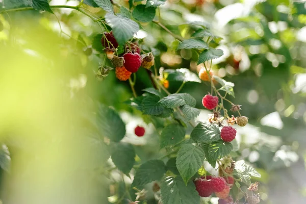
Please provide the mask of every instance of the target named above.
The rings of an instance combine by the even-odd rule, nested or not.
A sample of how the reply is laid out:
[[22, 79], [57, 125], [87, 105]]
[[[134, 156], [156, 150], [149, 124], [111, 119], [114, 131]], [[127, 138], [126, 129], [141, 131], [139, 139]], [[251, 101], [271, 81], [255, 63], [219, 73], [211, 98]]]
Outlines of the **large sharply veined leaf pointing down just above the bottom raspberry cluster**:
[[205, 159], [204, 151], [196, 145], [184, 144], [177, 152], [176, 167], [185, 184], [202, 166]]

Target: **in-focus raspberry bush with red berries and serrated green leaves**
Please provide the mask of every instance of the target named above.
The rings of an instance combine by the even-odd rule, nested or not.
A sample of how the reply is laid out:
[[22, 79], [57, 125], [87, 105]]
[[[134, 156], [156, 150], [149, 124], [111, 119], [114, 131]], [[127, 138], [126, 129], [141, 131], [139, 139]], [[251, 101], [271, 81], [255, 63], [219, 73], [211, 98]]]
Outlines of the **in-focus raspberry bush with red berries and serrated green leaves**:
[[[196, 1], [194, 7], [221, 5], [208, 2]], [[247, 127], [251, 115], [243, 115], [250, 112], [233, 102], [239, 100], [235, 84], [218, 67], [224, 63], [232, 72], [239, 72], [242, 54], [236, 52], [224, 60], [222, 37], [228, 36], [220, 37], [204, 21], [185, 20], [171, 26], [167, 20], [180, 9], [166, 7], [169, 16], [162, 15], [161, 7], [167, 4], [163, 0], [82, 0], [68, 6], [19, 0], [17, 6], [4, 1], [0, 12], [38, 10], [37, 15], [55, 16], [61, 35], [71, 37], [84, 51], [82, 59], [98, 61], [99, 66], [89, 68], [92, 81], [110, 80], [118, 87], [129, 87], [132, 97], [117, 101], [128, 113], [105, 105], [108, 103], [92, 102], [94, 114], [84, 119], [90, 123], [88, 137], [98, 138], [105, 156], [97, 171], [107, 178], [109, 188], [100, 203], [199, 204], [211, 203], [214, 198], [219, 198], [218, 203], [259, 203], [261, 174], [244, 160], [237, 141], [242, 130], [237, 127]], [[77, 38], [66, 34], [61, 23], [68, 24], [65, 17], [74, 14], [59, 19], [58, 9], [70, 9], [90, 19], [89, 24], [96, 26], [93, 34], [89, 38], [78, 32]], [[150, 43], [149, 37], [139, 37], [143, 31], [172, 42]], [[183, 60], [173, 57], [179, 54]], [[195, 96], [192, 88], [200, 85], [205, 90]], [[124, 95], [118, 87], [93, 86], [107, 89], [104, 102], [115, 93]], [[134, 122], [130, 115], [138, 120]], [[152, 135], [158, 142], [142, 157], [140, 152]]]

